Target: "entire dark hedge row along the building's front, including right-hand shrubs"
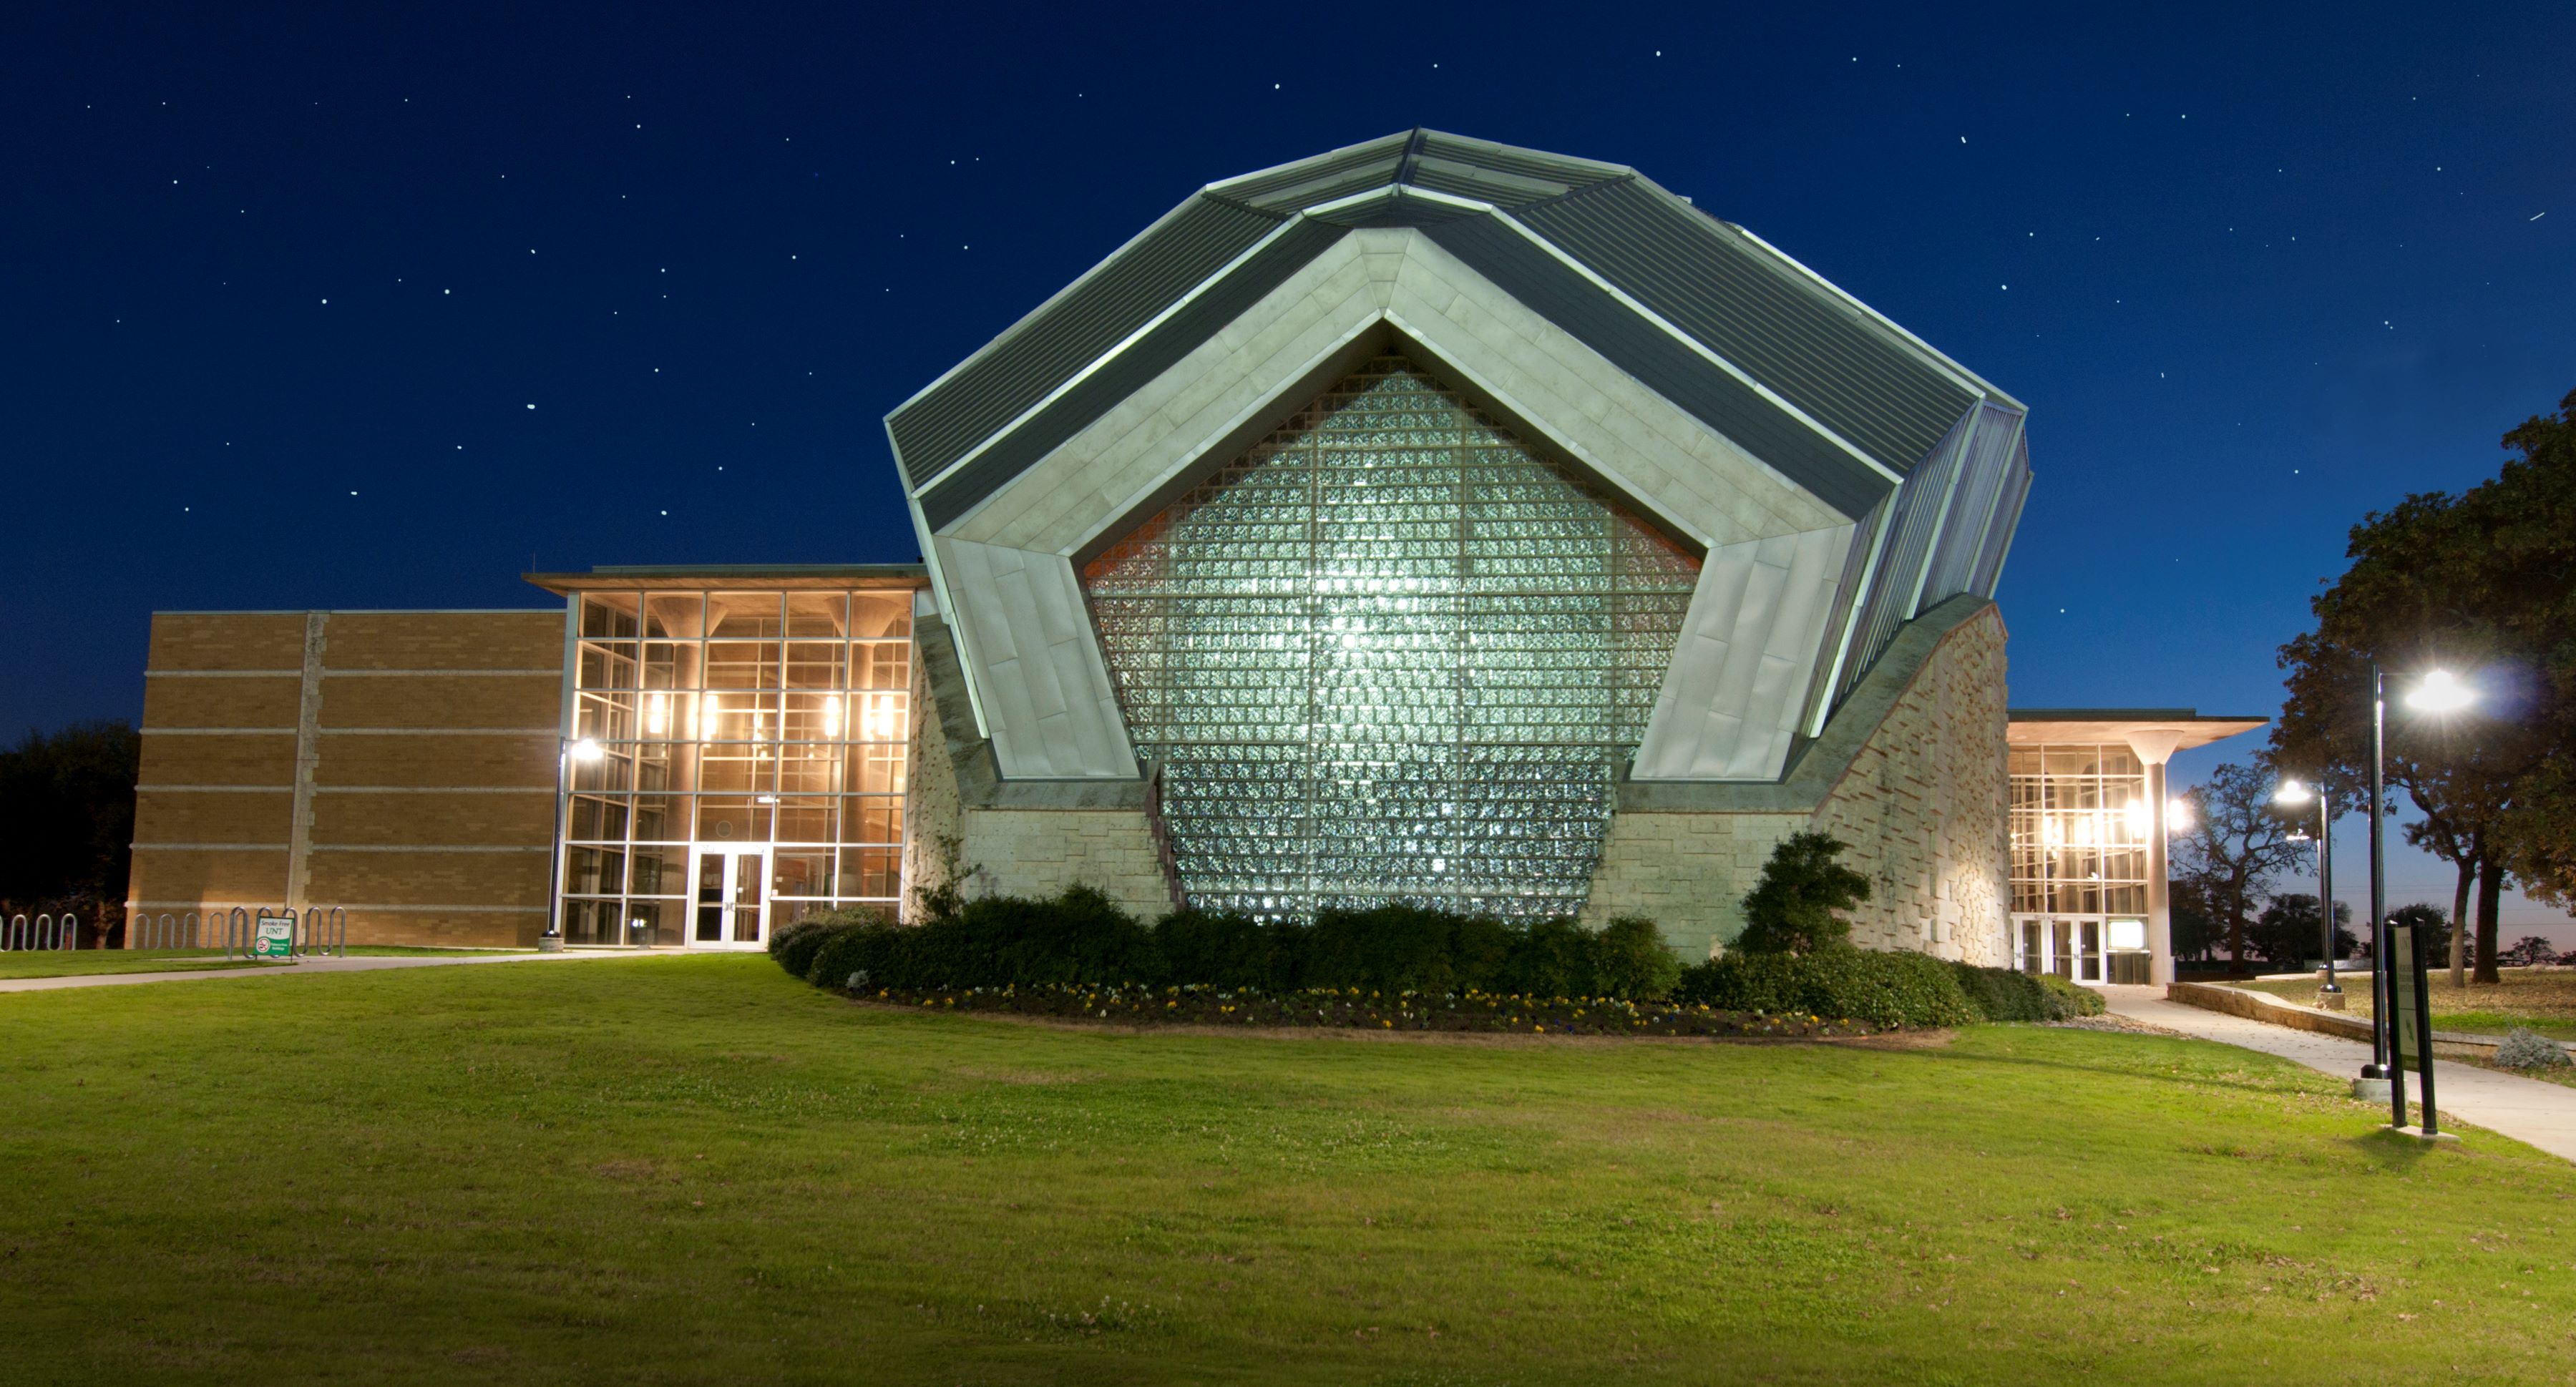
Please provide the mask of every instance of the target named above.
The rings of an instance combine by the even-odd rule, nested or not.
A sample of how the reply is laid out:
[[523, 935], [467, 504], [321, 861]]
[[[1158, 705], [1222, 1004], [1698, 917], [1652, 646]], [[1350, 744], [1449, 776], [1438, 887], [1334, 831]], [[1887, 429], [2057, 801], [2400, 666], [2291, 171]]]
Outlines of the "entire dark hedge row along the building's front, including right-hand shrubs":
[[2061, 978], [1942, 962], [1917, 952], [1821, 947], [1731, 952], [1682, 968], [1651, 921], [1589, 932], [1517, 926], [1419, 906], [1324, 911], [1314, 924], [1175, 911], [1154, 924], [1090, 888], [1054, 901], [989, 896], [899, 926], [873, 911], [817, 916], [770, 939], [788, 973], [824, 988], [1200, 986], [1285, 996], [1363, 988], [1419, 996], [1628, 998], [1770, 1016], [1850, 1016], [1873, 1027], [2061, 1022], [2102, 998]]

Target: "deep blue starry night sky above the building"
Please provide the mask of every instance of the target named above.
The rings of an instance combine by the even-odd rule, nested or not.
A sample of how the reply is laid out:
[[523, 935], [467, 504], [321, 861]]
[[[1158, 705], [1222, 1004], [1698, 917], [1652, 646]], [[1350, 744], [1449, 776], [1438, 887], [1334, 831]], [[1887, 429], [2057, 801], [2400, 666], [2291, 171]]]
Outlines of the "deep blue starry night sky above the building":
[[886, 409], [1414, 124], [1636, 165], [2027, 401], [2017, 705], [2272, 713], [2344, 530], [2576, 389], [2555, 3], [242, 10], [0, 21], [0, 728], [137, 715], [165, 607], [909, 561]]

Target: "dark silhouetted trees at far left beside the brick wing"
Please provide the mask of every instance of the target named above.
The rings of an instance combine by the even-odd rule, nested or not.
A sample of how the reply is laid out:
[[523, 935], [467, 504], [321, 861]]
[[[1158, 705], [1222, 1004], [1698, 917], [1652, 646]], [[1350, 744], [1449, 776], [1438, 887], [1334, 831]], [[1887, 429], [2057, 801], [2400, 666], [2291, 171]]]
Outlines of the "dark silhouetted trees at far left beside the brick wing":
[[126, 723], [26, 733], [0, 751], [0, 911], [124, 921], [142, 739]]

